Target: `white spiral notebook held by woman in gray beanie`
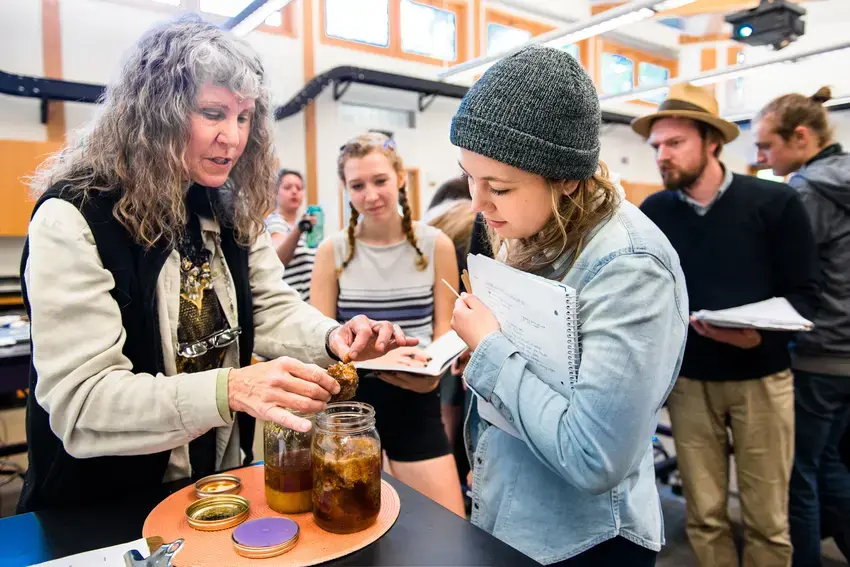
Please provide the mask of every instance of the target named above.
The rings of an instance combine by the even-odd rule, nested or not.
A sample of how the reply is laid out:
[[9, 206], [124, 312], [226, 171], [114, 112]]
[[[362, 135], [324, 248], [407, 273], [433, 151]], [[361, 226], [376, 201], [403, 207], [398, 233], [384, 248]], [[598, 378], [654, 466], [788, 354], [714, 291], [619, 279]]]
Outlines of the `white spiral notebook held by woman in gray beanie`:
[[[578, 294], [560, 282], [521, 272], [480, 255], [468, 257], [473, 294], [496, 316], [502, 334], [528, 361], [528, 368], [565, 395], [578, 381]], [[478, 413], [521, 438], [492, 404], [478, 398]]]

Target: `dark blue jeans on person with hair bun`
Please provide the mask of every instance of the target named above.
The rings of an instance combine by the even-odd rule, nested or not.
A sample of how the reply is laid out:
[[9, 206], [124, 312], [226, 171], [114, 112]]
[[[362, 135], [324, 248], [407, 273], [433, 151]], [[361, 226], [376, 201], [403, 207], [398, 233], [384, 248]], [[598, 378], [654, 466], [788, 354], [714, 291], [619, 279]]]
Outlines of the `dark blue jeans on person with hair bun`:
[[788, 510], [793, 565], [819, 567], [822, 537], [832, 536], [845, 557], [850, 553], [850, 469], [838, 453], [850, 424], [850, 377], [794, 374], [796, 452]]

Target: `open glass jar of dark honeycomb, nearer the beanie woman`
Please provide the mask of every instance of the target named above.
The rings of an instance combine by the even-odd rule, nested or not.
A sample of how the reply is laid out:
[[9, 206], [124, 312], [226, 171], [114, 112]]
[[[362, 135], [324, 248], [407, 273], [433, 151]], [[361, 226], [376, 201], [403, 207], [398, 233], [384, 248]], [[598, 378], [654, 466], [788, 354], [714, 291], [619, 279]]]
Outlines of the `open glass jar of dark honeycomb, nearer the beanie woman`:
[[338, 534], [364, 530], [381, 510], [381, 439], [375, 409], [360, 402], [329, 404], [313, 435], [313, 518]]

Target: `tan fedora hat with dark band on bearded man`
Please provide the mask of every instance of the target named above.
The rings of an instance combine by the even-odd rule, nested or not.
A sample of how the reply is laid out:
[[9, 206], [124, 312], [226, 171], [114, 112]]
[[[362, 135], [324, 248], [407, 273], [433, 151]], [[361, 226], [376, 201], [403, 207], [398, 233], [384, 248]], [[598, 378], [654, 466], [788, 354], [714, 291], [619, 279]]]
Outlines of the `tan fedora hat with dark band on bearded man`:
[[741, 133], [737, 124], [720, 118], [717, 99], [707, 89], [689, 83], [670, 87], [670, 92], [658, 107], [658, 112], [632, 120], [632, 130], [644, 138], [649, 138], [652, 123], [665, 117], [690, 118], [714, 126], [727, 144]]

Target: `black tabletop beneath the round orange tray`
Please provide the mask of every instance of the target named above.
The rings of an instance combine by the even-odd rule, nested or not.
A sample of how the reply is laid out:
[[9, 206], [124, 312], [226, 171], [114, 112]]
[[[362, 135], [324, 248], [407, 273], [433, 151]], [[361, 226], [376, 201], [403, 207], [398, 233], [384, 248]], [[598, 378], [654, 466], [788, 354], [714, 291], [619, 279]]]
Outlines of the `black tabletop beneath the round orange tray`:
[[[372, 545], [326, 565], [539, 565], [405, 484], [384, 478], [401, 499], [395, 525]], [[32, 565], [138, 539], [153, 507], [187, 484], [172, 483], [145, 502], [111, 510], [72, 509], [0, 519], [0, 566]]]

